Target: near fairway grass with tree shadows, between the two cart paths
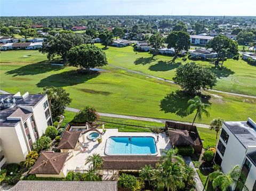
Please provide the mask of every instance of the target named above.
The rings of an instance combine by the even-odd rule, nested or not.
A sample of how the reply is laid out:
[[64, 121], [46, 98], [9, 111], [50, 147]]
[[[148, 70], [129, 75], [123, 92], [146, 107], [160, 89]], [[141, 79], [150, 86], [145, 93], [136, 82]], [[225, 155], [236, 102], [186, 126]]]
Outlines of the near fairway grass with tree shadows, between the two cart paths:
[[[40, 57], [37, 51], [9, 51], [9, 61], [26, 64], [6, 63], [6, 53], [0, 54], [0, 86], [7, 92], [38, 93], [45, 86], [56, 86], [63, 87], [70, 93], [73, 99], [70, 106], [78, 109], [92, 105], [99, 112], [105, 113], [179, 121], [192, 121], [194, 118], [194, 115], [186, 115], [188, 98], [175, 92], [179, 89], [178, 86], [167, 82], [110, 65], [105, 67], [105, 72], [79, 74], [73, 67], [47, 64], [42, 61], [44, 55]], [[22, 54], [31, 56], [23, 57]], [[28, 64], [31, 62], [34, 64]], [[245, 120], [255, 113], [256, 101], [253, 98], [214, 93], [209, 102], [212, 103], [211, 117], [203, 117], [200, 121], [202, 123], [209, 123], [213, 118], [219, 117], [220, 113], [225, 120]]]

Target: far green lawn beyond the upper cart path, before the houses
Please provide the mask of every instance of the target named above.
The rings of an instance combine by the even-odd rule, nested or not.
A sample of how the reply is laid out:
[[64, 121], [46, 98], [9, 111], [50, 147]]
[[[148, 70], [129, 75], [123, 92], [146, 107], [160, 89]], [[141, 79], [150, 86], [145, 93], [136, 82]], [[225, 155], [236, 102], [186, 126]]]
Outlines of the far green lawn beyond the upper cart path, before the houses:
[[[97, 44], [97, 46], [103, 47], [100, 44]], [[172, 80], [175, 75], [175, 69], [180, 64], [189, 62], [189, 60], [184, 62], [181, 59], [177, 59], [175, 64], [170, 64], [171, 56], [157, 55], [153, 57], [148, 52], [134, 52], [132, 46], [123, 48], [109, 47], [106, 50], [106, 54], [109, 64], [169, 80]], [[214, 89], [256, 95], [256, 66], [247, 64], [243, 60], [228, 59], [223, 64], [226, 68], [219, 70], [215, 69], [214, 65], [207, 61], [195, 62], [210, 68], [217, 75], [218, 83]]]

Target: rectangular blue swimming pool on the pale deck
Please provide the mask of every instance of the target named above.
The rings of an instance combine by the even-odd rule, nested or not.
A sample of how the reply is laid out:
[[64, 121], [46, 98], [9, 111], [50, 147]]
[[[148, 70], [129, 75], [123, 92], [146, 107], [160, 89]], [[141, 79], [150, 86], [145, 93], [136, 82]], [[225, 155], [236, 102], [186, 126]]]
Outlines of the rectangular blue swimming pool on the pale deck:
[[157, 155], [154, 137], [109, 137], [107, 155]]

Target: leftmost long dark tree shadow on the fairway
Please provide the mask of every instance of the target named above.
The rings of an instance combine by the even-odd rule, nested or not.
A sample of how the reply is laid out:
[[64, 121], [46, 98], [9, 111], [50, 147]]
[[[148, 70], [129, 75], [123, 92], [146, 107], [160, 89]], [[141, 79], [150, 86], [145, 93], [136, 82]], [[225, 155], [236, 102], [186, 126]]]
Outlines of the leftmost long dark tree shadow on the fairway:
[[50, 72], [50, 71], [58, 71], [63, 67], [60, 65], [51, 65], [51, 64], [63, 64], [62, 62], [49, 62], [49, 61], [42, 61], [37, 62], [34, 64], [27, 64], [23, 65], [20, 68], [6, 71], [5, 74], [13, 74], [13, 76], [26, 76], [26, 75], [36, 75], [40, 73]]

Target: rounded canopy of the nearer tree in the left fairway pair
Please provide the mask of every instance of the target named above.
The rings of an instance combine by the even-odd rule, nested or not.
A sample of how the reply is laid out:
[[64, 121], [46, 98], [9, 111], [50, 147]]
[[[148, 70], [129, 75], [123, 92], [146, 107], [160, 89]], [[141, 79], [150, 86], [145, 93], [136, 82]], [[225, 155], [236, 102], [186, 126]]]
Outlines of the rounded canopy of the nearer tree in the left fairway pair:
[[69, 65], [89, 71], [90, 68], [107, 65], [107, 57], [101, 48], [94, 45], [79, 45], [71, 48], [67, 54]]

